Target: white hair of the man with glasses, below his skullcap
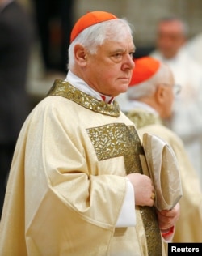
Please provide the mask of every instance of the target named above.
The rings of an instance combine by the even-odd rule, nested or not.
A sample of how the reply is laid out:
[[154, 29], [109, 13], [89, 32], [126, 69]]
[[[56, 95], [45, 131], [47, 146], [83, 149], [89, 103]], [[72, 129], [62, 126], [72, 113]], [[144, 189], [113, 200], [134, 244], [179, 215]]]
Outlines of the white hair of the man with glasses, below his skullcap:
[[145, 82], [138, 83], [135, 86], [128, 87], [128, 100], [139, 100], [145, 96], [152, 96], [156, 91], [159, 83], [166, 83], [170, 78], [170, 68], [161, 63], [156, 74]]

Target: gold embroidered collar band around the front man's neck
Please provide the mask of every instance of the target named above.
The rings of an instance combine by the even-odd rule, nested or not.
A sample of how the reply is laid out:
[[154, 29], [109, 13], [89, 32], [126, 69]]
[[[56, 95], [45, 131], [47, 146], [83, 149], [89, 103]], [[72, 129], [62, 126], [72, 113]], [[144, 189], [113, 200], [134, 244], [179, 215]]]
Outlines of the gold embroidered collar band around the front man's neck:
[[120, 116], [120, 107], [116, 100], [113, 104], [107, 104], [103, 100], [97, 100], [85, 92], [79, 91], [70, 83], [57, 79], [47, 96], [62, 96], [72, 100], [78, 105], [92, 111], [103, 113], [112, 117]]

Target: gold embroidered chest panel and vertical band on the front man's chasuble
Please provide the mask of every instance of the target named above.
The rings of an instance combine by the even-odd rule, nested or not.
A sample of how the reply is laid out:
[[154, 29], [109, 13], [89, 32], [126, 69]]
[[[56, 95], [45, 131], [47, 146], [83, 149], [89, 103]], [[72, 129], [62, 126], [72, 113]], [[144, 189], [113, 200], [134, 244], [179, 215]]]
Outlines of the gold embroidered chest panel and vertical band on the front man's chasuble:
[[[140, 139], [134, 126], [124, 123], [87, 129], [98, 160], [124, 156], [126, 173], [142, 173], [140, 155], [144, 155]], [[139, 207], [144, 222], [148, 255], [162, 254], [162, 241], [157, 217], [153, 207]]]

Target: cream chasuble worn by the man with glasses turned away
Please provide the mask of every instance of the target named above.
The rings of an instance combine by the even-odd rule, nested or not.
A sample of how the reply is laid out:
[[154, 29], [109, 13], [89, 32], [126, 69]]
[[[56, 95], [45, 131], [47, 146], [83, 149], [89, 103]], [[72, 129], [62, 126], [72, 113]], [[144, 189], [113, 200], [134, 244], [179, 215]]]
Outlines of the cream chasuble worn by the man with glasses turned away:
[[193, 169], [188, 159], [181, 139], [173, 131], [162, 125], [162, 121], [156, 113], [149, 112], [149, 109], [145, 109], [144, 105], [140, 108], [140, 103], [138, 105], [138, 109], [133, 109], [127, 114], [136, 125], [138, 134], [142, 137], [148, 132], [166, 140], [175, 151], [175, 156], [179, 162], [183, 197], [179, 200], [181, 214], [175, 224], [175, 235], [172, 241], [201, 242], [202, 191], [196, 170]]

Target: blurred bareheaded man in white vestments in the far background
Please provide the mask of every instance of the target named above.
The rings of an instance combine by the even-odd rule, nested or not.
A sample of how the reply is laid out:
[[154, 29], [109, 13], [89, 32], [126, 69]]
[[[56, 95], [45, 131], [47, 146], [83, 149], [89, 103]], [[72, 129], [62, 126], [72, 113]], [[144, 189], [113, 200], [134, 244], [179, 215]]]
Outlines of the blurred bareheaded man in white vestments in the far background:
[[157, 49], [151, 56], [167, 63], [175, 83], [182, 87], [167, 125], [183, 139], [202, 186], [202, 72], [183, 47], [186, 40], [186, 23], [178, 18], [162, 19], [157, 28]]

